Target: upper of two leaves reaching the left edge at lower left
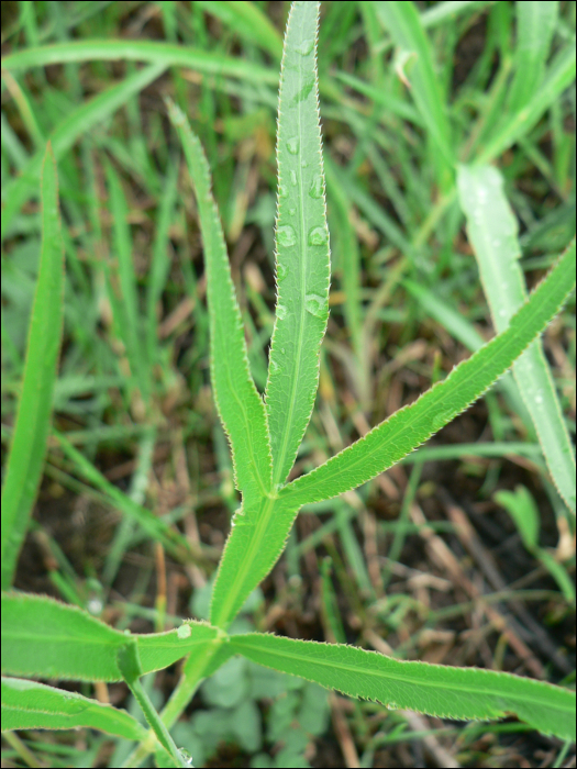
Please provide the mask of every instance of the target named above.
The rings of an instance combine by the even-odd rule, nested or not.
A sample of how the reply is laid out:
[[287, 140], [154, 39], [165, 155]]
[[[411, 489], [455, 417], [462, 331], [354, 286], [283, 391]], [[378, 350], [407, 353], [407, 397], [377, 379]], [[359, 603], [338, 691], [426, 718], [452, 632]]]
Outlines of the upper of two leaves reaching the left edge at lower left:
[[131, 635], [46, 595], [2, 593], [2, 672], [120, 681], [116, 654], [127, 637], [137, 643], [143, 675], [220, 644], [219, 631], [206, 623], [187, 622], [167, 633]]

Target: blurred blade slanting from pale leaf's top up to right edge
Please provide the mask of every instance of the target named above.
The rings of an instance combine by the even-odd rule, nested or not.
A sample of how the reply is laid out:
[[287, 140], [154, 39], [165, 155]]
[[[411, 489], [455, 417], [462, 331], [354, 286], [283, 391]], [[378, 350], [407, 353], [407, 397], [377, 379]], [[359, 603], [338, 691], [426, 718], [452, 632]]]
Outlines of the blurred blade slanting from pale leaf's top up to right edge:
[[517, 141], [525, 136], [543, 113], [559, 98], [575, 80], [575, 38], [559, 51], [548, 67], [541, 87], [529, 103], [519, 112], [507, 111], [500, 125], [475, 159], [478, 165], [490, 163]]

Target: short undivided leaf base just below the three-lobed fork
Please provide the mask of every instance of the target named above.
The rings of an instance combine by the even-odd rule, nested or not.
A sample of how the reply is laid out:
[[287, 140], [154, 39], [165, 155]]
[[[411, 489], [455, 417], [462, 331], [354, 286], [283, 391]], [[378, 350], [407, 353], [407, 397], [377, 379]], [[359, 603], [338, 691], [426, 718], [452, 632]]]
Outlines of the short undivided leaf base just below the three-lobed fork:
[[245, 499], [234, 514], [210, 608], [211, 624], [226, 628], [284, 550], [300, 505], [274, 498]]

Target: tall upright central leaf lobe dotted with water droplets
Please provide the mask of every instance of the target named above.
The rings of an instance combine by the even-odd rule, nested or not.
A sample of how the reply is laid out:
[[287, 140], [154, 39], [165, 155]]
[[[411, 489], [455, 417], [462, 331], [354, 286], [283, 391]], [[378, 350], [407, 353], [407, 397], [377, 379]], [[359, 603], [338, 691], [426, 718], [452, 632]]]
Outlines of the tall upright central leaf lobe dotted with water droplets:
[[329, 229], [317, 79], [318, 2], [291, 5], [278, 100], [277, 310], [266, 411], [273, 482], [282, 483], [309, 424], [329, 319]]

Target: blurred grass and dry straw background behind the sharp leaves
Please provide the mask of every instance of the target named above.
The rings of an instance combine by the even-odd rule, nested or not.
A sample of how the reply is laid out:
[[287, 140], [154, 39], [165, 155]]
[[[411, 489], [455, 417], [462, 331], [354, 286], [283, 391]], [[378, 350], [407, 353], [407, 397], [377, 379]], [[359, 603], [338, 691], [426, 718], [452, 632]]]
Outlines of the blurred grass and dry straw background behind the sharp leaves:
[[[437, 79], [428, 92], [445, 126], [436, 137], [413, 99], [414, 57], [396, 45], [379, 3], [322, 3], [331, 320], [295, 473], [414, 400], [493, 333], [439, 146], [469, 161], [522, 116], [532, 97], [518, 44], [523, 3], [414, 4]], [[543, 4], [556, 11], [534, 82], [575, 45], [575, 3]], [[15, 587], [116, 627], [159, 631], [207, 616], [237, 504], [209, 387], [195, 203], [163, 99], [180, 103], [207, 151], [263, 390], [288, 8], [2, 3], [3, 454], [37, 269], [37, 158], [47, 138], [58, 159], [67, 270], [54, 437]], [[519, 218], [529, 287], [575, 234], [575, 81], [537, 116], [514, 144], [489, 152]], [[545, 349], [574, 436], [570, 308], [545, 334]], [[574, 519], [511, 384], [504, 378], [356, 492], [306, 508], [236, 629], [573, 682]], [[188, 554], [152, 538], [142, 509], [174, 524]], [[524, 547], [515, 510], [539, 521], [556, 579]], [[146, 681], [158, 706], [177, 673]], [[122, 684], [80, 690], [134, 707]], [[387, 711], [246, 660], [203, 684], [174, 734], [195, 766], [575, 766], [569, 745], [514, 721], [458, 725]], [[126, 750], [87, 731], [24, 733], [3, 744], [3, 766], [25, 766], [26, 747], [45, 766], [120, 766]]]

